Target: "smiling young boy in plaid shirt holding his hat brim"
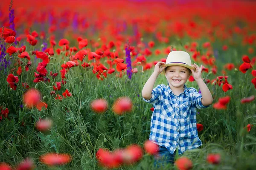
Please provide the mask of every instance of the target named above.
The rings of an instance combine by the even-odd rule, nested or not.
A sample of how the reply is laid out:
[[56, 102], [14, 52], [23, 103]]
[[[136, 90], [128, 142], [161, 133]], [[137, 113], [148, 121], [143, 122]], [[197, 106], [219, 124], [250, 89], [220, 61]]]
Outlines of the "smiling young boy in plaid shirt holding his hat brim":
[[[168, 85], [157, 85], [158, 75], [165, 70]], [[196, 126], [196, 108], [207, 108], [212, 104], [212, 95], [201, 78], [202, 65], [191, 65], [185, 51], [172, 51], [166, 63], [157, 62], [154, 72], [145, 83], [142, 96], [145, 102], [154, 105], [151, 116], [149, 140], [159, 145], [154, 156], [154, 165], [174, 163], [175, 150], [182, 154], [185, 150], [202, 145]], [[187, 88], [185, 83], [192, 73], [201, 94], [195, 88]]]

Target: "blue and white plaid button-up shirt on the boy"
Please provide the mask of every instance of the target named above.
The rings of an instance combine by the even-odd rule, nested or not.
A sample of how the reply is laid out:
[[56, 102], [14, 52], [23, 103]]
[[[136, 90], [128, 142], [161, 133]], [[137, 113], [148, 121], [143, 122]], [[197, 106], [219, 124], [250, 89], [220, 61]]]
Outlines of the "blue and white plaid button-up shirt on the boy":
[[185, 150], [202, 145], [196, 127], [196, 108], [207, 108], [201, 102], [202, 95], [195, 88], [187, 88], [176, 96], [166, 85], [157, 85], [152, 91], [152, 98], [145, 102], [154, 105], [151, 116], [149, 140], [166, 147], [171, 154], [178, 149]]

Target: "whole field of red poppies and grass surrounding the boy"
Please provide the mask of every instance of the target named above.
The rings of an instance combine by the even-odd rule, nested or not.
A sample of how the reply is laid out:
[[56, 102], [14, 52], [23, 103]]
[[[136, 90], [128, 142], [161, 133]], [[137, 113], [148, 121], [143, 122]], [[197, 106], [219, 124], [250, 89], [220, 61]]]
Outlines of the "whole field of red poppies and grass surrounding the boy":
[[[0, 170], [154, 170], [141, 91], [171, 51], [203, 65], [203, 145], [169, 170], [256, 167], [256, 2], [6, 0], [0, 6]], [[156, 80], [167, 85], [164, 73]], [[198, 85], [190, 76], [187, 87]]]

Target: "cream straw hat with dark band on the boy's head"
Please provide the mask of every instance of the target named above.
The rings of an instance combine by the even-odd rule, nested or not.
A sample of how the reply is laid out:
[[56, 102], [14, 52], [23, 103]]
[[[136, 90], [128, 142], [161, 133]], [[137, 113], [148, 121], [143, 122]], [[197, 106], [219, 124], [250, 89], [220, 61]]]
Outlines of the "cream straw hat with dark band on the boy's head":
[[166, 64], [162, 66], [168, 67], [172, 65], [179, 65], [195, 70], [195, 68], [191, 66], [192, 64], [189, 54], [185, 51], [172, 51], [168, 54]]

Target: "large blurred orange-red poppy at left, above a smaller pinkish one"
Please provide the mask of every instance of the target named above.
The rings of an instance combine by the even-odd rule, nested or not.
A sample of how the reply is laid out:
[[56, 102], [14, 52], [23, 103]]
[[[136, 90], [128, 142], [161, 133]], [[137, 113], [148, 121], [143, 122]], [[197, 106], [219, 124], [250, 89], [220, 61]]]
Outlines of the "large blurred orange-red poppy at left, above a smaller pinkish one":
[[29, 89], [23, 96], [23, 102], [27, 108], [31, 109], [36, 106], [38, 102], [40, 102], [41, 94], [36, 89]]

